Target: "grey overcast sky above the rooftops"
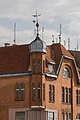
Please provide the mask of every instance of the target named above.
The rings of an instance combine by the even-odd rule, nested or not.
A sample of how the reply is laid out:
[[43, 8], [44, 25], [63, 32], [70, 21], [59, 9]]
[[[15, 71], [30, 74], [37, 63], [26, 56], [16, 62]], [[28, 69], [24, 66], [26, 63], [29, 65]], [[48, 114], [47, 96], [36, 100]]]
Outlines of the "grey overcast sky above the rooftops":
[[13, 44], [16, 22], [16, 44], [28, 44], [35, 38], [35, 19], [39, 17], [40, 37], [44, 27], [43, 40], [47, 44], [58, 42], [59, 25], [62, 25], [62, 44], [70, 38], [70, 48], [80, 50], [80, 0], [0, 0], [0, 46]]

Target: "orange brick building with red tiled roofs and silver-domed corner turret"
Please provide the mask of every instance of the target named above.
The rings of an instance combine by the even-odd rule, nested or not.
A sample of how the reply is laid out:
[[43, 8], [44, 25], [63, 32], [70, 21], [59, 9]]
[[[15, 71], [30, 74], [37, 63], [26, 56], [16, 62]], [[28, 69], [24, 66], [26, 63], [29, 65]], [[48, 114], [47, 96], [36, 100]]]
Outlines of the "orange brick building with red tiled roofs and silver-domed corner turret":
[[0, 120], [79, 120], [79, 61], [80, 51], [39, 35], [0, 47]]

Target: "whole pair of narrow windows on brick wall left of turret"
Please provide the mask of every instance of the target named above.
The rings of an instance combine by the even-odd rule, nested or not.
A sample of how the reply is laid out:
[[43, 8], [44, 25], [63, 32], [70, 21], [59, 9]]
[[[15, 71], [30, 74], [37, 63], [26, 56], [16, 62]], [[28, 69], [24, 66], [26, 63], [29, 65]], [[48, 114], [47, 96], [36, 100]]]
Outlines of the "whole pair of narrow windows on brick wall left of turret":
[[25, 85], [24, 83], [15, 84], [15, 100], [24, 100], [25, 98]]

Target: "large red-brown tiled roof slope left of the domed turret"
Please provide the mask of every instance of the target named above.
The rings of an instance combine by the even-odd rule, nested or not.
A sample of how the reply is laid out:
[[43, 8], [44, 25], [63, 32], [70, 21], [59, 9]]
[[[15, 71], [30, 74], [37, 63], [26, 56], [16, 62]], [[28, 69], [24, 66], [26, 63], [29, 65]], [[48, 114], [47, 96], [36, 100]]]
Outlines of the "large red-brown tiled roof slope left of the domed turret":
[[29, 45], [0, 47], [0, 74], [27, 72]]

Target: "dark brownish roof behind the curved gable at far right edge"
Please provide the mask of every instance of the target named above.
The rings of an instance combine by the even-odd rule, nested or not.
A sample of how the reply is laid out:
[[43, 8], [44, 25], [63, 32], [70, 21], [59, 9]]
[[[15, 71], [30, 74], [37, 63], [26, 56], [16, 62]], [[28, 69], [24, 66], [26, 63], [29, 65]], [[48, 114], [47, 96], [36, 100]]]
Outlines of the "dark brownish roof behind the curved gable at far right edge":
[[77, 67], [80, 70], [80, 51], [69, 50], [69, 52], [74, 56]]

